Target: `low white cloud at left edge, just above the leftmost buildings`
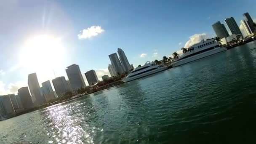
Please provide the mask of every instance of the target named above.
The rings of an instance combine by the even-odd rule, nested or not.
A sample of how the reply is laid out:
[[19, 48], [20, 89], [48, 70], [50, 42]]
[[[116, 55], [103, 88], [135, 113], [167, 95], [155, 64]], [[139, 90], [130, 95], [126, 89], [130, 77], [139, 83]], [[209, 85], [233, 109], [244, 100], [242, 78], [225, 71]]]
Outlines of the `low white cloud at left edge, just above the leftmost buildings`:
[[0, 95], [17, 93], [18, 89], [24, 86], [27, 86], [25, 81], [17, 81], [15, 83], [9, 83], [7, 89], [5, 89], [5, 83], [0, 81]]

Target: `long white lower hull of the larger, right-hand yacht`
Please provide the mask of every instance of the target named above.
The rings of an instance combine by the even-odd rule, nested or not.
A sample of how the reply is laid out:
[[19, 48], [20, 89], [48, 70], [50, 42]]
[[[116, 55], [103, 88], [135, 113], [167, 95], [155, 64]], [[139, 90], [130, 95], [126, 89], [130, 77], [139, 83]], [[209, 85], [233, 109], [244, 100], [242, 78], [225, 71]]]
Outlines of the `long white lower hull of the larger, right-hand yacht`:
[[195, 56], [188, 57], [186, 59], [181, 59], [180, 61], [174, 61], [171, 65], [173, 67], [178, 67], [180, 65], [187, 64], [189, 62], [196, 61], [198, 59], [203, 59], [203, 58], [205, 58], [207, 56], [211, 56], [211, 55], [214, 55], [216, 53], [220, 53], [220, 52], [226, 51], [226, 50], [227, 50], [227, 48], [225, 48], [225, 47], [215, 48], [215, 49], [213, 49], [211, 51], [206, 51], [204, 53], [200, 53], [200, 54], [197, 54]]

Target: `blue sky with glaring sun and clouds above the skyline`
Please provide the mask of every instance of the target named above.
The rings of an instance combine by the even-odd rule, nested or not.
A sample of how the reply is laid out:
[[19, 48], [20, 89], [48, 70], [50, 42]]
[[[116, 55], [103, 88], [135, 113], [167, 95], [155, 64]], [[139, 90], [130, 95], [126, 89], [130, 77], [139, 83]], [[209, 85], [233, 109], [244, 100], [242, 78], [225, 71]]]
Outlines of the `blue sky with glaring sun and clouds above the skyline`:
[[255, 5], [255, 0], [1, 1], [0, 95], [27, 86], [33, 72], [40, 85], [67, 78], [71, 64], [80, 66], [84, 78], [91, 69], [99, 78], [110, 75], [108, 55], [117, 48], [134, 66], [171, 56], [216, 36], [211, 27], [216, 21], [225, 24], [232, 16], [239, 26], [245, 12], [256, 20]]

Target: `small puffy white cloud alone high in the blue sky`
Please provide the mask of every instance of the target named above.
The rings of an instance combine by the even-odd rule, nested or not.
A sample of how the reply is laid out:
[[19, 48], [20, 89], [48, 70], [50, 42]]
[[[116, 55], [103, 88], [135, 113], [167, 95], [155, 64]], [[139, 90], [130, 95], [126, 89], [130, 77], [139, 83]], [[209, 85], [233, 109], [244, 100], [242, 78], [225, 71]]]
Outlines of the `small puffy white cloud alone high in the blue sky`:
[[79, 39], [87, 39], [90, 37], [97, 36], [98, 34], [104, 32], [104, 29], [102, 29], [100, 26], [91, 26], [88, 27], [87, 29], [83, 29], [80, 31], [81, 33], [78, 34]]

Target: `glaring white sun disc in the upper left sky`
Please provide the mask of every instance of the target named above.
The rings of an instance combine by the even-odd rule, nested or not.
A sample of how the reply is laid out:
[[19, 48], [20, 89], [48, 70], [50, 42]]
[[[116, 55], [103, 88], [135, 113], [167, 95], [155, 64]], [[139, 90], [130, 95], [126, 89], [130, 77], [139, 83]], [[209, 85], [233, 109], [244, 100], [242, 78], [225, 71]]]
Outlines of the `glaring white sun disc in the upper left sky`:
[[52, 68], [64, 59], [65, 49], [61, 39], [50, 35], [38, 35], [29, 38], [22, 50], [21, 61], [29, 67]]

